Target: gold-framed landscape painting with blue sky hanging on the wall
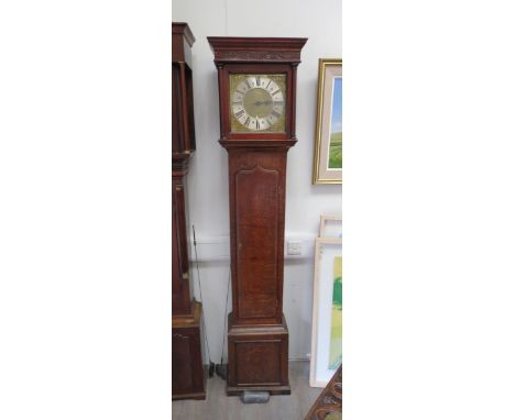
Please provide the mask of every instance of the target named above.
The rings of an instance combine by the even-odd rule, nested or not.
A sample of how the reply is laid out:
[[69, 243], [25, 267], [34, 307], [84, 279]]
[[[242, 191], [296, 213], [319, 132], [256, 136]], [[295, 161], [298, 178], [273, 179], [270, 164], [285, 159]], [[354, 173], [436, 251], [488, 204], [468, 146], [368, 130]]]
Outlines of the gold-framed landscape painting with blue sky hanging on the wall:
[[313, 184], [341, 184], [341, 58], [320, 58]]

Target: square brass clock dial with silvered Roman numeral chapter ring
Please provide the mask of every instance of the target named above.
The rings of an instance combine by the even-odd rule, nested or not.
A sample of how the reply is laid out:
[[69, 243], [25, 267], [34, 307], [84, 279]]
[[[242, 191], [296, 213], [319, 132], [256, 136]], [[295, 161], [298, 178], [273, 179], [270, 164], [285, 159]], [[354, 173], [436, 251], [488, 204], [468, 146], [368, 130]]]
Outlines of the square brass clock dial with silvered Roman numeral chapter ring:
[[284, 132], [285, 75], [230, 75], [232, 132]]

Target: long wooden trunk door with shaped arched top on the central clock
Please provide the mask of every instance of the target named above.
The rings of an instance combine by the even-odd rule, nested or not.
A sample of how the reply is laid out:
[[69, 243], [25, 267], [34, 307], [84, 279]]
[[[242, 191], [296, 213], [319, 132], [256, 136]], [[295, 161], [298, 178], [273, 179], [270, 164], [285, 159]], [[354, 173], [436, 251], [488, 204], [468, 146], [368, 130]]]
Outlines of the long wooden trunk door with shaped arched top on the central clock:
[[237, 253], [242, 318], [274, 317], [277, 308], [280, 173], [261, 165], [235, 173]]

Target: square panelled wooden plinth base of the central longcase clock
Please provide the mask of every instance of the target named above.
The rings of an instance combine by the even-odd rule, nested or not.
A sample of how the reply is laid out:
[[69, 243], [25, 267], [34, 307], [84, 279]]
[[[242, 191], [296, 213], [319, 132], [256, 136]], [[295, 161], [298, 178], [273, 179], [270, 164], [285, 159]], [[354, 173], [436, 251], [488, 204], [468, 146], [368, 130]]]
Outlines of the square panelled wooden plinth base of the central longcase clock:
[[227, 394], [245, 390], [291, 394], [288, 379], [288, 327], [280, 324], [234, 324], [229, 313], [229, 366]]

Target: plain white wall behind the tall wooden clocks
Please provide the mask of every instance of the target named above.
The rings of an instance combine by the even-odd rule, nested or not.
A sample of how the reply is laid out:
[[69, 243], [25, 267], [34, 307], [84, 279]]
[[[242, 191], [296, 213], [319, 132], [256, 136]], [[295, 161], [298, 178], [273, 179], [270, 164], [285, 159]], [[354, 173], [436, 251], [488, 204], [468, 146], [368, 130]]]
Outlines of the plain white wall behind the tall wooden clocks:
[[[305, 253], [302, 257], [286, 258], [284, 276], [289, 357], [304, 358], [310, 351], [313, 241], [320, 214], [341, 213], [340, 186], [311, 185], [318, 58], [341, 57], [341, 1], [173, 0], [172, 8], [173, 20], [187, 22], [197, 40], [193, 48], [197, 152], [188, 180], [189, 211], [197, 240], [202, 243], [198, 245], [199, 273], [211, 360], [217, 363], [226, 333], [223, 313], [229, 274], [228, 159], [226, 150], [218, 144], [217, 71], [206, 37], [308, 37], [297, 76], [298, 143], [288, 153], [286, 176], [286, 239], [303, 240]], [[193, 279], [195, 296], [200, 300], [196, 268]]]

